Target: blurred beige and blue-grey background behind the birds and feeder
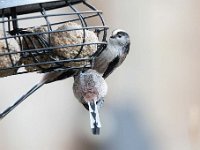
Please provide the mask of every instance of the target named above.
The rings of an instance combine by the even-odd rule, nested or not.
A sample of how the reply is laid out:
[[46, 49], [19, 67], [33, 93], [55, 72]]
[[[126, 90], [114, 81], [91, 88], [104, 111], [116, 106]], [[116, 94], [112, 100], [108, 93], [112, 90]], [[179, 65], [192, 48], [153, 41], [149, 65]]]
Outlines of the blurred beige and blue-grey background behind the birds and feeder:
[[[110, 31], [126, 30], [131, 50], [109, 78], [100, 136], [73, 96], [73, 79], [42, 87], [0, 122], [1, 150], [198, 150], [200, 2], [88, 0]], [[0, 79], [0, 110], [38, 82]]]

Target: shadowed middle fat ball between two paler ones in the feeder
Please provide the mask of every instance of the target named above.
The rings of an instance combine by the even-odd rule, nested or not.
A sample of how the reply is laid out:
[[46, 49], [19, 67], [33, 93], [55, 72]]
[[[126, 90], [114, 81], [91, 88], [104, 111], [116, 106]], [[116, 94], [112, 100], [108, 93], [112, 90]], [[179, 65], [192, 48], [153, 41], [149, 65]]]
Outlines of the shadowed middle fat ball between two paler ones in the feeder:
[[[33, 27], [33, 28], [27, 28], [26, 31], [28, 34], [31, 33], [43, 33], [47, 32], [47, 29], [43, 26], [40, 27]], [[22, 35], [23, 36], [23, 35]], [[38, 34], [38, 35], [28, 35], [23, 36], [22, 39], [22, 46], [23, 50], [34, 50], [34, 52], [24, 52], [23, 57], [21, 58], [21, 62], [25, 65], [31, 65], [36, 63], [42, 63], [42, 62], [48, 62], [50, 61], [50, 53], [48, 50], [44, 51], [37, 51], [37, 49], [41, 48], [47, 48], [48, 47], [48, 41], [49, 41], [49, 35], [48, 34]], [[51, 64], [43, 64], [43, 65], [33, 65], [33, 66], [27, 66], [25, 69], [28, 72], [32, 72], [35, 70], [41, 70], [41, 69], [48, 69], [52, 65]]]

